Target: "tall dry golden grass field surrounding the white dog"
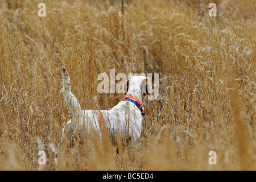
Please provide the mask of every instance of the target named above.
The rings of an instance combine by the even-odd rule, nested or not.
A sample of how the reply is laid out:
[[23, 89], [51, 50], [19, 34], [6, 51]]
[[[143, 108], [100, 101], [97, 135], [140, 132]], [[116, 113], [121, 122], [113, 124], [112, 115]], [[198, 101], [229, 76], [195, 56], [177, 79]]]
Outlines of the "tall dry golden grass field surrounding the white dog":
[[[255, 170], [256, 1], [121, 2], [0, 1], [0, 170]], [[100, 73], [159, 73], [137, 146], [59, 144], [72, 117], [60, 65], [82, 109], [122, 100], [97, 92]]]

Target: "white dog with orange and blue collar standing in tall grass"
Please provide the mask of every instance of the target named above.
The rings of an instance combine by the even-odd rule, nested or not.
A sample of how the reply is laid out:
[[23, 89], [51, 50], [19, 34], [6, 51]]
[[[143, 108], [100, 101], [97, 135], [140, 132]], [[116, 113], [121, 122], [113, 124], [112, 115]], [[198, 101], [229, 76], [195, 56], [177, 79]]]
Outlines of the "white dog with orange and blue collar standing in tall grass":
[[115, 136], [121, 134], [127, 139], [131, 137], [131, 142], [138, 141], [141, 137], [142, 116], [144, 115], [143, 100], [146, 96], [147, 88], [151, 88], [150, 80], [144, 76], [130, 77], [126, 82], [127, 93], [124, 100], [119, 102], [111, 110], [81, 110], [77, 98], [71, 92], [70, 78], [68, 72], [63, 68], [63, 89], [65, 101], [68, 102], [74, 111], [74, 117], [67, 122], [63, 128], [63, 134], [68, 134], [69, 139], [73, 132], [79, 135], [90, 132], [94, 129], [101, 136], [102, 125]]

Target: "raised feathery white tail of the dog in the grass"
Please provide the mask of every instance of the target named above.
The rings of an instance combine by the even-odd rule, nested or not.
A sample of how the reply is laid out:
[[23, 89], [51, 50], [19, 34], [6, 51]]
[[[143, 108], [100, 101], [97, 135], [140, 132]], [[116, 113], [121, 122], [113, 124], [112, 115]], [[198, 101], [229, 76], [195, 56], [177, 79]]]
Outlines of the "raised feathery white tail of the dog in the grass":
[[60, 92], [64, 94], [65, 102], [68, 103], [69, 107], [74, 111], [76, 117], [78, 117], [81, 111], [81, 106], [77, 101], [76, 96], [74, 96], [71, 92], [70, 78], [65, 68], [62, 69], [61, 75], [63, 79], [63, 88], [60, 90]]

